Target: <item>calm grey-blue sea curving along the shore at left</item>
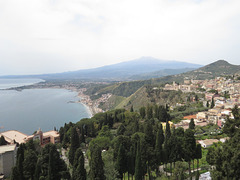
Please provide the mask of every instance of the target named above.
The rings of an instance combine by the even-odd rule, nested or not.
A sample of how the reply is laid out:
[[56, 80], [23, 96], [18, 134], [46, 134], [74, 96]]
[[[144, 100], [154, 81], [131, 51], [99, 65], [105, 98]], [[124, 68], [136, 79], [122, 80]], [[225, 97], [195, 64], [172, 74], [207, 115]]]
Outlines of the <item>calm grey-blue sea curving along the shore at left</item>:
[[[31, 85], [41, 81], [0, 79], [0, 88]], [[86, 106], [71, 103], [78, 100], [77, 92], [65, 89], [0, 90], [0, 131], [18, 130], [30, 135], [39, 128], [44, 132], [53, 130], [54, 127], [59, 129], [64, 123], [75, 123], [90, 117]]]

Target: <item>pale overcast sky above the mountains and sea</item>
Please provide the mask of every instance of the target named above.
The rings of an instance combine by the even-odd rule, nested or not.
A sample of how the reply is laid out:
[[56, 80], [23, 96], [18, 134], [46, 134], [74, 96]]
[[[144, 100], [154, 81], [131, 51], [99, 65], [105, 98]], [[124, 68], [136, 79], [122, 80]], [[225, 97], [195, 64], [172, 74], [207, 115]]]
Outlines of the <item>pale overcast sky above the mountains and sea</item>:
[[239, 0], [0, 0], [0, 75], [152, 56], [240, 64]]

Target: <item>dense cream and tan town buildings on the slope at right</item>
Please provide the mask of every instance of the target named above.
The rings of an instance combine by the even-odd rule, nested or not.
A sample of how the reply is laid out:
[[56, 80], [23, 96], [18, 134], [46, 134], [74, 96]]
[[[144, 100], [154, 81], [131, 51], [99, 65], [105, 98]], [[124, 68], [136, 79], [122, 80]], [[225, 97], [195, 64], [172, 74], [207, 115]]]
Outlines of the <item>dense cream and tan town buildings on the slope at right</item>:
[[[193, 119], [197, 126], [206, 126], [212, 123], [218, 125], [219, 129], [221, 129], [228, 117], [234, 118], [232, 108], [234, 108], [235, 105], [240, 107], [240, 81], [224, 77], [217, 77], [211, 80], [186, 79], [181, 85], [173, 82], [173, 84], [166, 84], [164, 87], [165, 90], [181, 90], [183, 92], [199, 92], [199, 88], [205, 90], [205, 92], [201, 92], [205, 93], [203, 104], [206, 106], [208, 102], [208, 104], [211, 105], [211, 102], [214, 101], [214, 107], [208, 109], [208, 111], [185, 116], [180, 123], [174, 126], [187, 129], [191, 119]], [[226, 138], [220, 140], [206, 139], [200, 140], [198, 143], [200, 143], [203, 148], [207, 148], [213, 143], [219, 141], [225, 142], [225, 140]]]

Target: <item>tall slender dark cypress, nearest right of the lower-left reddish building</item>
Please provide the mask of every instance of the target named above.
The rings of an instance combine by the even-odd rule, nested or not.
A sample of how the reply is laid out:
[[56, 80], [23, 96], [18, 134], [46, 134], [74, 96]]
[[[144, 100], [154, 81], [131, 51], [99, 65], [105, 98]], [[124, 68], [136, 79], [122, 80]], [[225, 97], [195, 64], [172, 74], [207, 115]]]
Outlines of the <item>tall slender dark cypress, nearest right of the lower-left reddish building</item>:
[[80, 147], [79, 144], [79, 136], [76, 131], [76, 128], [72, 128], [72, 133], [71, 133], [71, 146], [68, 154], [69, 162], [73, 165], [74, 161], [74, 155], [76, 150]]

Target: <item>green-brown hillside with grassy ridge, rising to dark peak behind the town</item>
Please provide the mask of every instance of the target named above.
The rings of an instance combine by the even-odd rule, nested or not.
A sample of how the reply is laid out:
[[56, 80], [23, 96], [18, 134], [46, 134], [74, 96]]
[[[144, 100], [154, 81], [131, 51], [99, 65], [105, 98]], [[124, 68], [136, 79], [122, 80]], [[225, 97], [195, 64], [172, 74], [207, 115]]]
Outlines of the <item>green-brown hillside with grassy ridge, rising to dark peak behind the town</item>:
[[240, 66], [232, 65], [227, 61], [219, 60], [190, 72], [149, 80], [117, 83], [104, 87], [95, 93], [113, 94], [109, 100], [111, 103], [102, 105], [104, 109], [130, 108], [132, 105], [138, 109], [142, 105], [146, 106], [147, 104], [162, 104], [164, 102], [171, 104], [177, 101], [168, 95], [169, 92], [163, 92], [159, 89], [159, 87], [163, 86], [165, 83], [171, 83], [173, 81], [183, 82], [184, 78], [211, 79], [221, 75], [232, 75], [238, 73], [239, 71]]

